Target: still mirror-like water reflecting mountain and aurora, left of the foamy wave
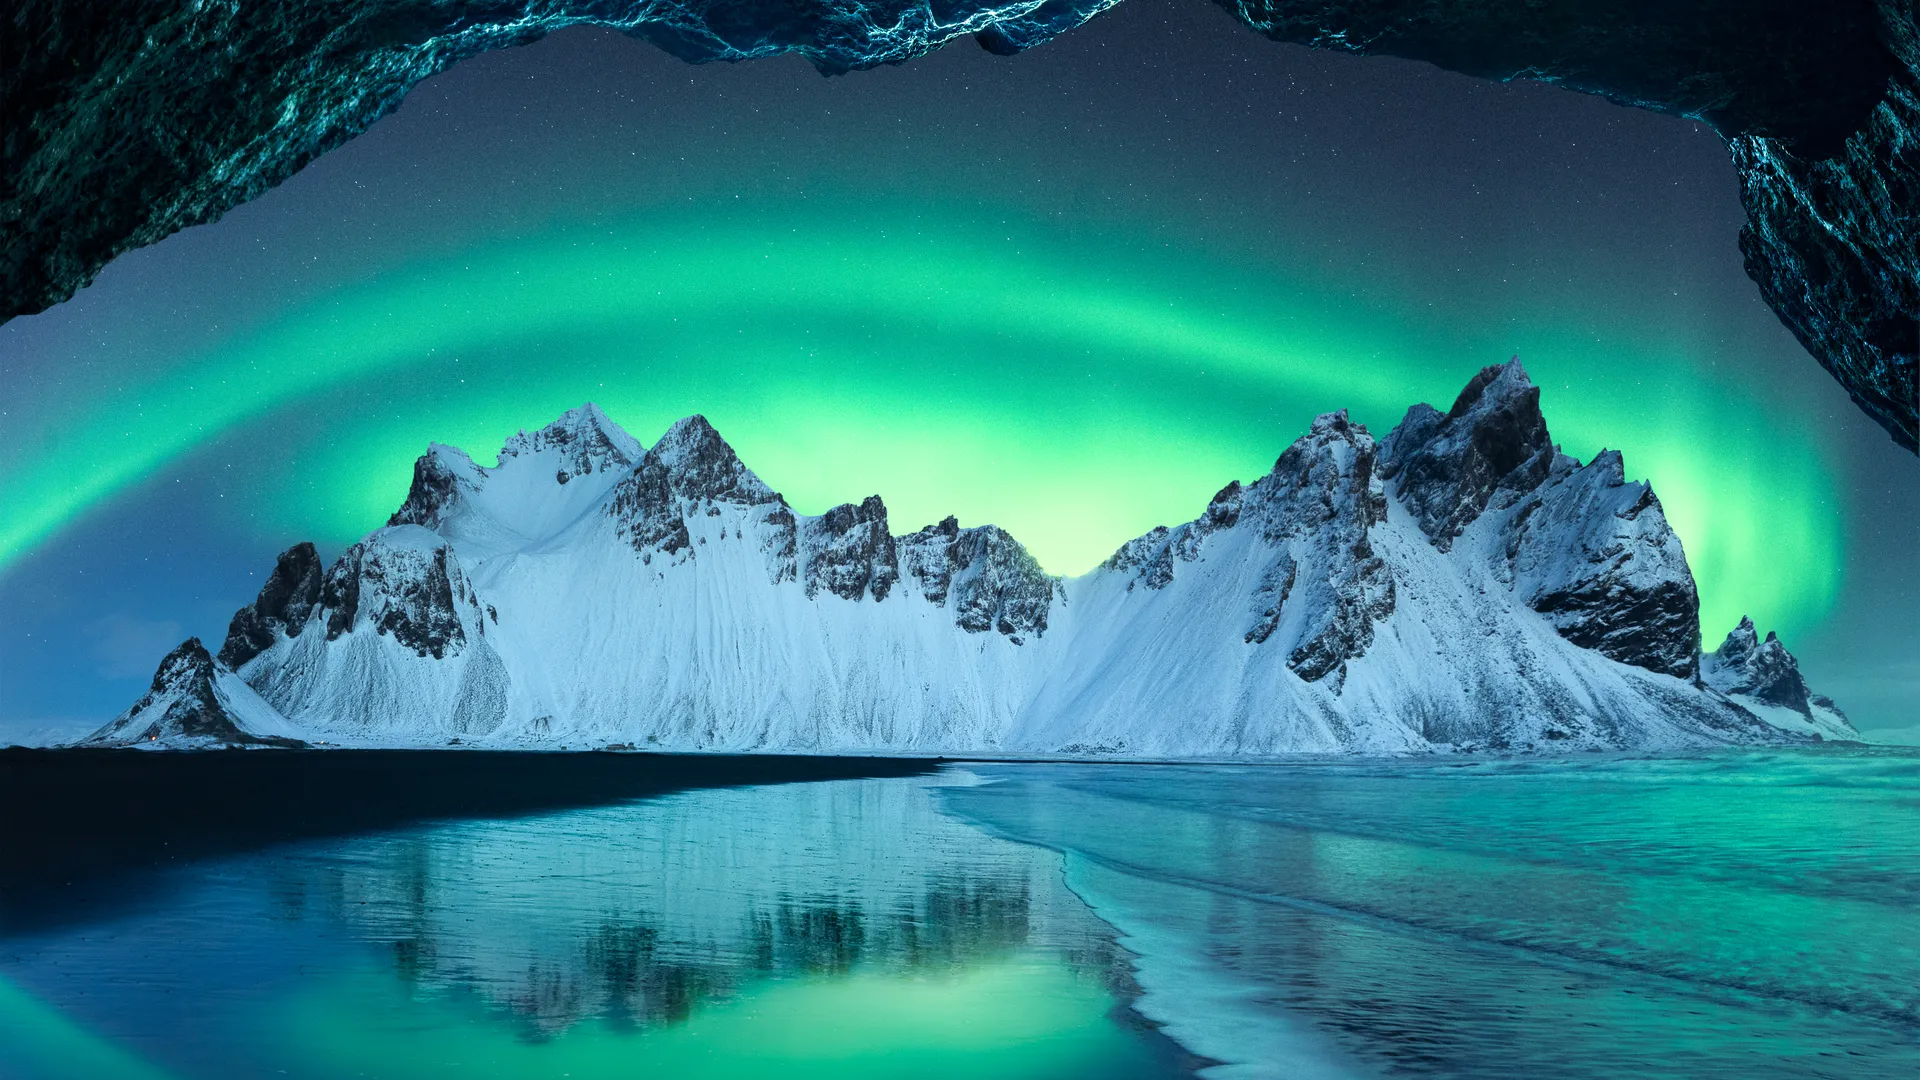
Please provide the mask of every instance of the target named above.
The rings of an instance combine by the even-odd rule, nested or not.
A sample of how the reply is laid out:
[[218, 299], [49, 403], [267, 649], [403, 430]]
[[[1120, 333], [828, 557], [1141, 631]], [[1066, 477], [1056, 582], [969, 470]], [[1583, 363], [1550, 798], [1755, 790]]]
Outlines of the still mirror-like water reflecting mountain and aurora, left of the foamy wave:
[[[956, 782], [282, 846], [179, 871], [157, 911], [15, 936], [0, 978], [177, 1076], [1187, 1070], [1127, 1013], [1127, 957], [1060, 857], [941, 815], [929, 786]], [[27, 1059], [0, 1045], [0, 1074]]]

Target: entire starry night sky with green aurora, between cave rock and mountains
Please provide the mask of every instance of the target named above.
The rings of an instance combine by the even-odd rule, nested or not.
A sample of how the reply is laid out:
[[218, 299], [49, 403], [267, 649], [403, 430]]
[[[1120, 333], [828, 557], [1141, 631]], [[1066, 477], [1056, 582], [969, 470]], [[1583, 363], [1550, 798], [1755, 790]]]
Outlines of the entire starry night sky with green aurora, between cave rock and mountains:
[[1054, 573], [1521, 356], [1626, 455], [1709, 648], [1778, 628], [1920, 738], [1920, 467], [1740, 267], [1703, 125], [1129, 0], [822, 79], [607, 31], [480, 56], [223, 221], [0, 327], [0, 742], [92, 728], [426, 442], [705, 413], [803, 511], [996, 523]]

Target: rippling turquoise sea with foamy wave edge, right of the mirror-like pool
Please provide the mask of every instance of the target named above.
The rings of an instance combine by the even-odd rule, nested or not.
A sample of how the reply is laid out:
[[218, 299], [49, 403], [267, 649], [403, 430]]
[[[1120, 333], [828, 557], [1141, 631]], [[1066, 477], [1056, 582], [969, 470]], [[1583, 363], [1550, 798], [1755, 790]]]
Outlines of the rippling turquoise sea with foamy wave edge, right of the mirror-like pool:
[[993, 767], [1238, 1076], [1920, 1076], [1920, 757]]

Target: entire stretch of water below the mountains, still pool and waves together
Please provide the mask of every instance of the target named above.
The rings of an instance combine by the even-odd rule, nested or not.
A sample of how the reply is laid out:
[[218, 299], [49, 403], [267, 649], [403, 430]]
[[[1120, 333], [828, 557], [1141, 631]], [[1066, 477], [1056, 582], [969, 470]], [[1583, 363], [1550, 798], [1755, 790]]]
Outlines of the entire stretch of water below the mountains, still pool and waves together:
[[6, 924], [0, 1076], [1920, 1076], [1903, 753], [972, 765], [121, 888]]

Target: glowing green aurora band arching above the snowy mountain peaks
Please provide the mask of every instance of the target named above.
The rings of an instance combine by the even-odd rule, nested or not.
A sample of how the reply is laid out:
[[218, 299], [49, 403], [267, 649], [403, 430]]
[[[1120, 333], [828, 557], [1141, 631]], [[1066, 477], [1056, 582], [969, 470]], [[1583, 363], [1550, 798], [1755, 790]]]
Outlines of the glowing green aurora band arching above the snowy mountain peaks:
[[803, 511], [879, 492], [897, 530], [991, 521], [1081, 573], [1263, 473], [1315, 413], [1380, 436], [1519, 352], [1569, 454], [1619, 448], [1653, 480], [1709, 644], [1743, 613], [1782, 632], [1824, 617], [1843, 544], [1811, 421], [1563, 302], [1480, 332], [1363, 292], [952, 209], [553, 229], [294, 304], [138, 386], [21, 402], [0, 436], [0, 573], [198, 454], [259, 473], [248, 515], [275, 542], [349, 542], [428, 440], [488, 463], [586, 400], [641, 440], [707, 413]]

